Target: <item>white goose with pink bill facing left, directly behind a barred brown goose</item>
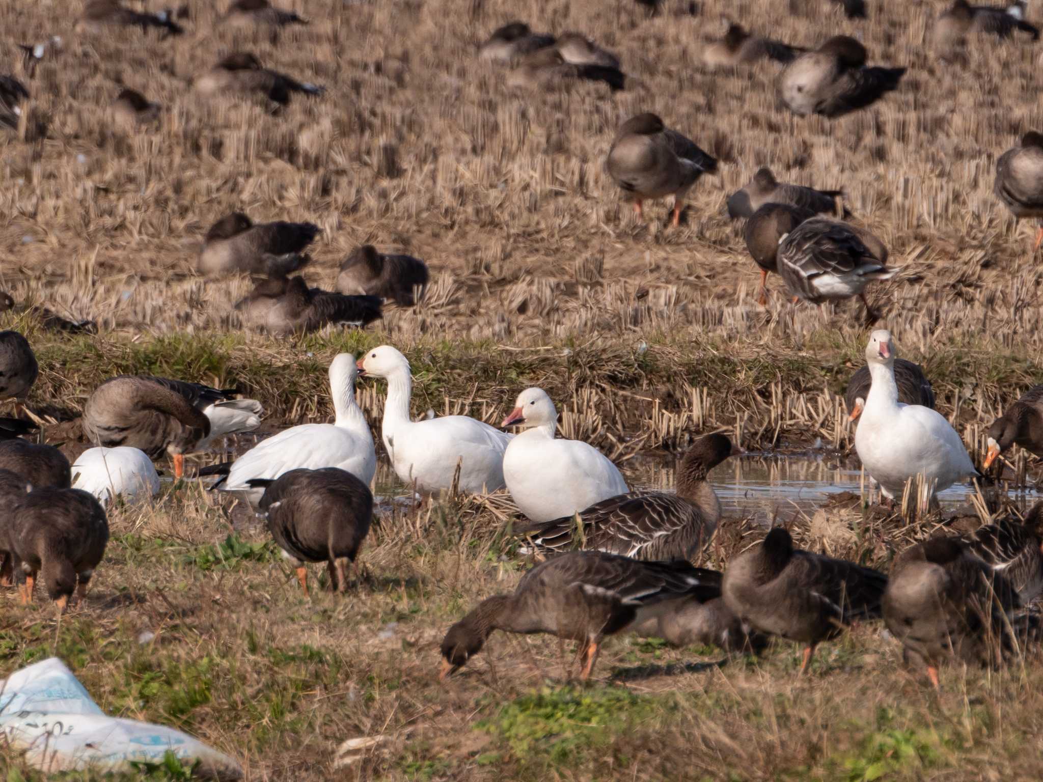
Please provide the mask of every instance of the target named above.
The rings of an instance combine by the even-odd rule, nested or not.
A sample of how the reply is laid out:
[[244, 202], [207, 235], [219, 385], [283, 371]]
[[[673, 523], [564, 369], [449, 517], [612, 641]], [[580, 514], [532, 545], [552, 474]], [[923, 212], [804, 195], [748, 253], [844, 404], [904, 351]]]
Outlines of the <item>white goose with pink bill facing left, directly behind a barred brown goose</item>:
[[529, 427], [507, 446], [504, 479], [518, 510], [533, 521], [572, 516], [630, 491], [600, 450], [579, 440], [555, 440], [557, 421], [558, 411], [547, 392], [529, 388], [518, 394], [514, 411], [502, 424]]

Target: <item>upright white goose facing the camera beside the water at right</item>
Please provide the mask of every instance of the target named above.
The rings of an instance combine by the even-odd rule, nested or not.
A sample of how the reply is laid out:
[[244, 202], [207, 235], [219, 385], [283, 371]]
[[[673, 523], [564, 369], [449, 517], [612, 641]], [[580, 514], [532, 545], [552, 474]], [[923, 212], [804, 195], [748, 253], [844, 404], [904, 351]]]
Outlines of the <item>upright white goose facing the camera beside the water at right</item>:
[[898, 401], [891, 332], [878, 328], [870, 335], [866, 361], [873, 382], [854, 447], [883, 495], [901, 497], [905, 483], [918, 473], [936, 482], [936, 492], [977, 475], [960, 435], [942, 415], [922, 405]]

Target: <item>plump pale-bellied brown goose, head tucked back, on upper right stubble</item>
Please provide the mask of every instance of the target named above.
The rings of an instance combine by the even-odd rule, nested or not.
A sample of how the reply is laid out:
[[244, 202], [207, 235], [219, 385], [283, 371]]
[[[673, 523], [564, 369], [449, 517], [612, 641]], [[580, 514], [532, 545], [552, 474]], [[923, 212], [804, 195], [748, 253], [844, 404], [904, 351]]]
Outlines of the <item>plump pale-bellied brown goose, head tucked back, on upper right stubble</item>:
[[795, 114], [840, 117], [898, 89], [904, 68], [867, 68], [866, 57], [853, 38], [829, 39], [786, 66], [779, 79], [782, 101]]

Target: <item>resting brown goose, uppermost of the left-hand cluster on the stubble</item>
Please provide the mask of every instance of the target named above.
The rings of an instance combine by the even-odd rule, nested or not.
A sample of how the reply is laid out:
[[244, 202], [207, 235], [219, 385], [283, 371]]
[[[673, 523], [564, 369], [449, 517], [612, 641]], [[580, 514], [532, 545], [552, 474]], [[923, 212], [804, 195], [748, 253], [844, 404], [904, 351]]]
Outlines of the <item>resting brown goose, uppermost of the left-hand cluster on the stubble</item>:
[[311, 260], [301, 253], [319, 231], [314, 223], [254, 225], [246, 215], [233, 212], [207, 231], [196, 268], [210, 276], [239, 271], [285, 276]]

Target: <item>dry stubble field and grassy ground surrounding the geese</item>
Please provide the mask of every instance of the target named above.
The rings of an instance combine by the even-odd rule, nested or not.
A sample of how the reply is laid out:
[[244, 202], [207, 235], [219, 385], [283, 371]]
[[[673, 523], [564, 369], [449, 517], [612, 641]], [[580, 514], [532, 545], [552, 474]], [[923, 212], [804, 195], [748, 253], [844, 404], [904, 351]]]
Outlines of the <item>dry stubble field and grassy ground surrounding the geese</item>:
[[[871, 0], [869, 19], [850, 21], [826, 0], [700, 2], [696, 15], [666, 0], [656, 16], [618, 0], [312, 0], [293, 3], [311, 25], [272, 36], [228, 29], [223, 4], [192, 0], [187, 33], [164, 41], [79, 34], [80, 7], [0, 0], [0, 72], [32, 94], [19, 132], [0, 135], [0, 288], [101, 331], [55, 337], [31, 313], [0, 324], [37, 349], [30, 402], [58, 421], [47, 437], [71, 455], [78, 409], [112, 374], [238, 385], [274, 429], [325, 420], [330, 359], [384, 342], [413, 362], [416, 414], [493, 420], [542, 385], [566, 434], [616, 459], [718, 426], [747, 448], [821, 439], [843, 451], [835, 394], [862, 363], [860, 309], [793, 308], [778, 278], [769, 307], [756, 304], [756, 267], [724, 201], [761, 165], [843, 188], [889, 246], [902, 271], [870, 298], [969, 446], [1041, 376], [1035, 225], [1015, 225], [992, 195], [996, 158], [1043, 126], [1041, 50], [972, 40], [966, 62], [942, 63], [925, 41], [944, 3]], [[803, 46], [855, 34], [872, 64], [909, 72], [868, 111], [793, 117], [777, 67], [701, 65], [726, 15]], [[592, 36], [620, 55], [627, 90], [509, 91], [476, 48], [514, 19]], [[30, 79], [16, 44], [50, 35], [60, 51]], [[190, 79], [236, 49], [326, 93], [277, 116], [199, 100]], [[106, 108], [124, 85], [164, 104], [156, 127], [112, 130]], [[637, 221], [604, 171], [615, 127], [641, 111], [722, 160], [678, 229], [665, 201]], [[313, 285], [332, 287], [363, 242], [422, 258], [428, 298], [389, 307], [364, 334], [246, 334], [231, 306], [248, 282], [193, 273], [207, 227], [232, 210], [319, 224]], [[361, 395], [375, 424], [383, 389]], [[358, 591], [304, 600], [262, 529], [195, 485], [168, 490], [154, 509], [111, 514], [86, 608], [57, 624], [49, 607], [0, 595], [0, 673], [57, 653], [106, 711], [189, 730], [256, 780], [1038, 777], [1038, 664], [949, 669], [936, 697], [876, 627], [823, 647], [802, 681], [789, 644], [718, 666], [711, 650], [618, 639], [599, 682], [574, 690], [562, 686], [571, 649], [494, 636], [440, 685], [445, 628], [526, 567], [503, 535], [505, 509], [401, 509], [367, 543]], [[893, 555], [893, 531], [859, 511], [794, 523], [818, 549], [881, 566]], [[726, 521], [707, 564], [758, 534]], [[337, 748], [358, 736], [386, 739], [335, 769]], [[8, 761], [8, 779], [29, 774]]]

